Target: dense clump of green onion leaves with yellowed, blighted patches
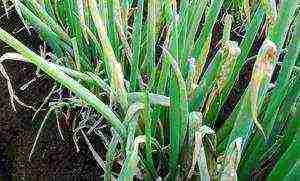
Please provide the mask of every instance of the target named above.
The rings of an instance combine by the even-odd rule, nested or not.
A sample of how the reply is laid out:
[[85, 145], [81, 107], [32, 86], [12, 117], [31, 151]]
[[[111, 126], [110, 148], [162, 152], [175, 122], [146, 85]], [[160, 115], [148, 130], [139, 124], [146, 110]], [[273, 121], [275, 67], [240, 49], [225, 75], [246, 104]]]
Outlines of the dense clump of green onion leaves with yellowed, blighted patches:
[[[295, 177], [300, 168], [299, 4], [256, 2], [247, 9], [242, 40], [235, 41], [235, 16], [220, 17], [226, 3], [3, 1], [47, 43], [47, 51], [37, 54], [0, 28], [0, 40], [17, 52], [0, 59], [12, 106], [25, 104], [14, 95], [5, 60], [34, 64], [55, 81], [40, 108], [27, 106], [36, 114], [46, 104], [49, 109], [30, 159], [50, 115], [61, 116], [67, 108], [79, 111], [74, 145], [80, 151], [78, 139], [85, 140], [105, 180]], [[220, 23], [222, 37], [214, 31]], [[253, 55], [258, 38], [262, 45]], [[250, 56], [255, 60], [251, 80], [219, 127], [221, 108]], [[102, 140], [106, 155], [93, 148], [91, 134]]]

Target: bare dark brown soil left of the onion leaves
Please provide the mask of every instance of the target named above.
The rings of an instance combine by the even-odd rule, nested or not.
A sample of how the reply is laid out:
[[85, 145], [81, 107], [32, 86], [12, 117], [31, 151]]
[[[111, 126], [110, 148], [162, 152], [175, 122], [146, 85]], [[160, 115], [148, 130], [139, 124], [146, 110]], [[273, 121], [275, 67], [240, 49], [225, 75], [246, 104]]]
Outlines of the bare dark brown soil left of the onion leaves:
[[[3, 15], [3, 9], [1, 9], [0, 15]], [[34, 32], [29, 35], [25, 29], [18, 31], [23, 25], [15, 12], [10, 13], [9, 19], [1, 16], [0, 27], [38, 52], [37, 47], [42, 42]], [[12, 51], [3, 42], [0, 42], [0, 56], [5, 52]], [[45, 76], [37, 78], [35, 68], [28, 64], [7, 61], [5, 67], [16, 95], [27, 105], [39, 107], [52, 88], [51, 80]], [[37, 78], [37, 80], [26, 90], [20, 90], [22, 85], [33, 78]], [[76, 152], [72, 142], [71, 124], [63, 127], [65, 141], [62, 141], [58, 134], [56, 122], [49, 124], [42, 133], [33, 158], [31, 161], [28, 160], [38, 131], [36, 125], [41, 123], [44, 116], [42, 113], [33, 124], [31, 120], [33, 114], [33, 110], [22, 106], [17, 106], [17, 112], [13, 111], [6, 80], [0, 76], [0, 180], [97, 179], [96, 176], [100, 174], [101, 170], [83, 142], [80, 143], [80, 152]], [[92, 142], [95, 141], [93, 138], [91, 139]]]

